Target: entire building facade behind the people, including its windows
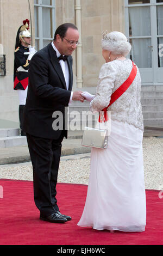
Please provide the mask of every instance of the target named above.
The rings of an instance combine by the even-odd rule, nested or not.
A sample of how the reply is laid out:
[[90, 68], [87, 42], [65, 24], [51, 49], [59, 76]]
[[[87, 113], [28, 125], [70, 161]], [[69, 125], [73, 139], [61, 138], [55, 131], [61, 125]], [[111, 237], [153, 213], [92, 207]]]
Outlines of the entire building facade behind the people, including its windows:
[[[13, 68], [16, 33], [23, 20], [30, 20], [29, 31], [36, 50], [53, 40], [55, 28], [61, 23], [74, 23], [79, 29], [80, 44], [72, 55], [73, 90], [95, 92], [99, 69], [104, 63], [101, 39], [102, 31], [106, 30], [123, 32], [133, 41], [134, 51], [137, 50], [132, 54], [141, 56], [140, 72], [146, 86], [163, 84], [163, 57], [158, 57], [156, 41], [163, 42], [161, 13], [163, 0], [0, 0], [0, 54], [1, 57], [4, 54], [6, 59], [5, 76], [0, 72], [0, 128], [18, 127], [18, 95], [13, 89]], [[139, 26], [142, 21], [146, 26], [151, 24], [144, 32]], [[157, 24], [158, 29], [154, 27]], [[133, 34], [130, 34], [131, 30]], [[156, 35], [156, 30], [160, 34]], [[145, 40], [149, 41], [146, 51], [143, 50]], [[143, 54], [148, 54], [147, 58]], [[151, 66], [144, 62], [148, 58]], [[153, 92], [153, 88], [146, 87], [145, 92]]]

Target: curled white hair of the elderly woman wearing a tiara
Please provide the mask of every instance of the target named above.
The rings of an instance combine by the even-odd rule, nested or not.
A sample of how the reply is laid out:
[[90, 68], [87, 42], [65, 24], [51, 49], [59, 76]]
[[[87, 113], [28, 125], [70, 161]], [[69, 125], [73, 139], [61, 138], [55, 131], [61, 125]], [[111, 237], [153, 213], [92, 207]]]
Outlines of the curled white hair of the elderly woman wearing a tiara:
[[114, 55], [126, 56], [131, 50], [131, 45], [127, 41], [126, 35], [121, 32], [103, 32], [102, 48], [111, 51]]

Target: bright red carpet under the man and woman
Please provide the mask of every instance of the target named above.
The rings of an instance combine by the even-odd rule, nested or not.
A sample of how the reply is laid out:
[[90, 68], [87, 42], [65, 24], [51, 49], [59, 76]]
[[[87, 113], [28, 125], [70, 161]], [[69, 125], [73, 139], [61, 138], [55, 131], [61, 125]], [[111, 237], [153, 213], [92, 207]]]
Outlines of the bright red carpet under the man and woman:
[[[72, 216], [65, 224], [39, 220], [33, 182], [1, 180], [0, 245], [163, 245], [163, 198], [147, 190], [147, 225], [142, 233], [123, 233], [78, 227], [87, 186], [58, 184], [60, 211]], [[1, 190], [2, 192], [2, 190]]]

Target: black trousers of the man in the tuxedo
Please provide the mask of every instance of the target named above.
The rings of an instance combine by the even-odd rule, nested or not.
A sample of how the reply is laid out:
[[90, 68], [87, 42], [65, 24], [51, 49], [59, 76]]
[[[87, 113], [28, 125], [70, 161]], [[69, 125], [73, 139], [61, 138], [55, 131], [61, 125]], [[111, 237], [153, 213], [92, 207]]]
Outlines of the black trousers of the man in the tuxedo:
[[64, 132], [57, 140], [35, 137], [27, 133], [33, 166], [34, 201], [40, 212], [46, 216], [59, 210], [56, 185], [63, 138]]

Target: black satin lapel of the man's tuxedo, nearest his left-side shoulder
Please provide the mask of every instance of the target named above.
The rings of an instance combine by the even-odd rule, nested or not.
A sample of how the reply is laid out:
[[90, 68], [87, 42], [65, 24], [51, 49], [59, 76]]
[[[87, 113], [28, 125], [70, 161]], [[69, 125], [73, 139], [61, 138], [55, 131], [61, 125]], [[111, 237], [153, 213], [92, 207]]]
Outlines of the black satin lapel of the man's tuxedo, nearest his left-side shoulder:
[[55, 71], [57, 72], [57, 74], [59, 75], [63, 86], [65, 87], [65, 89], [67, 89], [64, 73], [62, 72], [61, 65], [60, 65], [59, 60], [57, 58], [57, 54], [56, 54], [55, 50], [53, 49], [51, 43], [48, 45], [48, 50], [49, 50], [49, 55], [51, 57], [52, 65], [53, 65]]

